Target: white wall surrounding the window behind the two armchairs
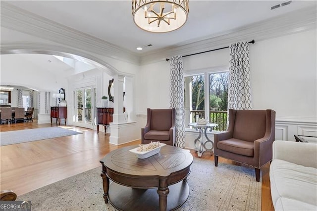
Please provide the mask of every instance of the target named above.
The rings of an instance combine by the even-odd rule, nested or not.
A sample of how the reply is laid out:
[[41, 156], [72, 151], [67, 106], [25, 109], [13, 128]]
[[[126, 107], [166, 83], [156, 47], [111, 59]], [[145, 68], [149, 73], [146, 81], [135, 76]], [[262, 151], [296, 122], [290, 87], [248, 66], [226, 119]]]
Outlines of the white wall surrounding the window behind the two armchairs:
[[[276, 139], [317, 135], [316, 37], [312, 30], [250, 44], [253, 108], [276, 111]], [[185, 75], [224, 70], [229, 66], [229, 50], [184, 57], [183, 62]], [[147, 107], [168, 107], [169, 63], [140, 69], [138, 121], [144, 123]]]

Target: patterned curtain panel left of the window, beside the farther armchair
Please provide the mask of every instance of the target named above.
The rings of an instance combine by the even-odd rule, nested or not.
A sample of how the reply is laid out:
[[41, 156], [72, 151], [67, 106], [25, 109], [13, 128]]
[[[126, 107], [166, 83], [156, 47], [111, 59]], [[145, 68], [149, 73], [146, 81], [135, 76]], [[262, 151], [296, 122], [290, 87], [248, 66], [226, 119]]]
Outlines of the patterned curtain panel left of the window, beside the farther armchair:
[[170, 107], [175, 108], [176, 147], [185, 148], [183, 58], [170, 58]]

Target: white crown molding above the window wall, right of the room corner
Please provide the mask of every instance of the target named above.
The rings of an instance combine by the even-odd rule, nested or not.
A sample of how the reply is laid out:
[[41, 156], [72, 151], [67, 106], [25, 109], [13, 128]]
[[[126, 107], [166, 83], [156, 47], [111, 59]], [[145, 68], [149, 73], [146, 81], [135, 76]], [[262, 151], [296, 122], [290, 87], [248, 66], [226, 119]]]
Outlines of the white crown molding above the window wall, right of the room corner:
[[215, 34], [211, 38], [206, 38], [202, 41], [180, 43], [173, 48], [165, 48], [153, 53], [142, 54], [140, 64], [159, 62], [164, 58], [170, 58], [174, 55], [188, 55], [210, 51], [229, 46], [235, 42], [251, 40], [257, 42], [316, 28], [317, 8], [307, 7], [268, 20]]

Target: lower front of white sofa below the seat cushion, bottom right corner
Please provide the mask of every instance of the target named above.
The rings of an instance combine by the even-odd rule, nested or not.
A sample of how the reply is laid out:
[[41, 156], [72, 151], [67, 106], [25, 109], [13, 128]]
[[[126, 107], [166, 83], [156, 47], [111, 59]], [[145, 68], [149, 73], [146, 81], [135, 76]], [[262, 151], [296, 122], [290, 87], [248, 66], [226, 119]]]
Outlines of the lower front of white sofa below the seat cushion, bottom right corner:
[[317, 206], [284, 197], [278, 198], [275, 211], [316, 211]]

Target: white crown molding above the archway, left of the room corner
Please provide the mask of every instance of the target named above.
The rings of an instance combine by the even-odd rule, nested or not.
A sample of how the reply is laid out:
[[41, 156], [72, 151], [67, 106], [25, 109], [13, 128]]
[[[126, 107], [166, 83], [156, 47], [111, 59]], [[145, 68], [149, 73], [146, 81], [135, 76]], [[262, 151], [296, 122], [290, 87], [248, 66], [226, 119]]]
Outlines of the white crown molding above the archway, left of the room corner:
[[139, 64], [139, 56], [126, 49], [20, 9], [5, 1], [1, 2], [1, 27], [53, 41], [60, 45]]

